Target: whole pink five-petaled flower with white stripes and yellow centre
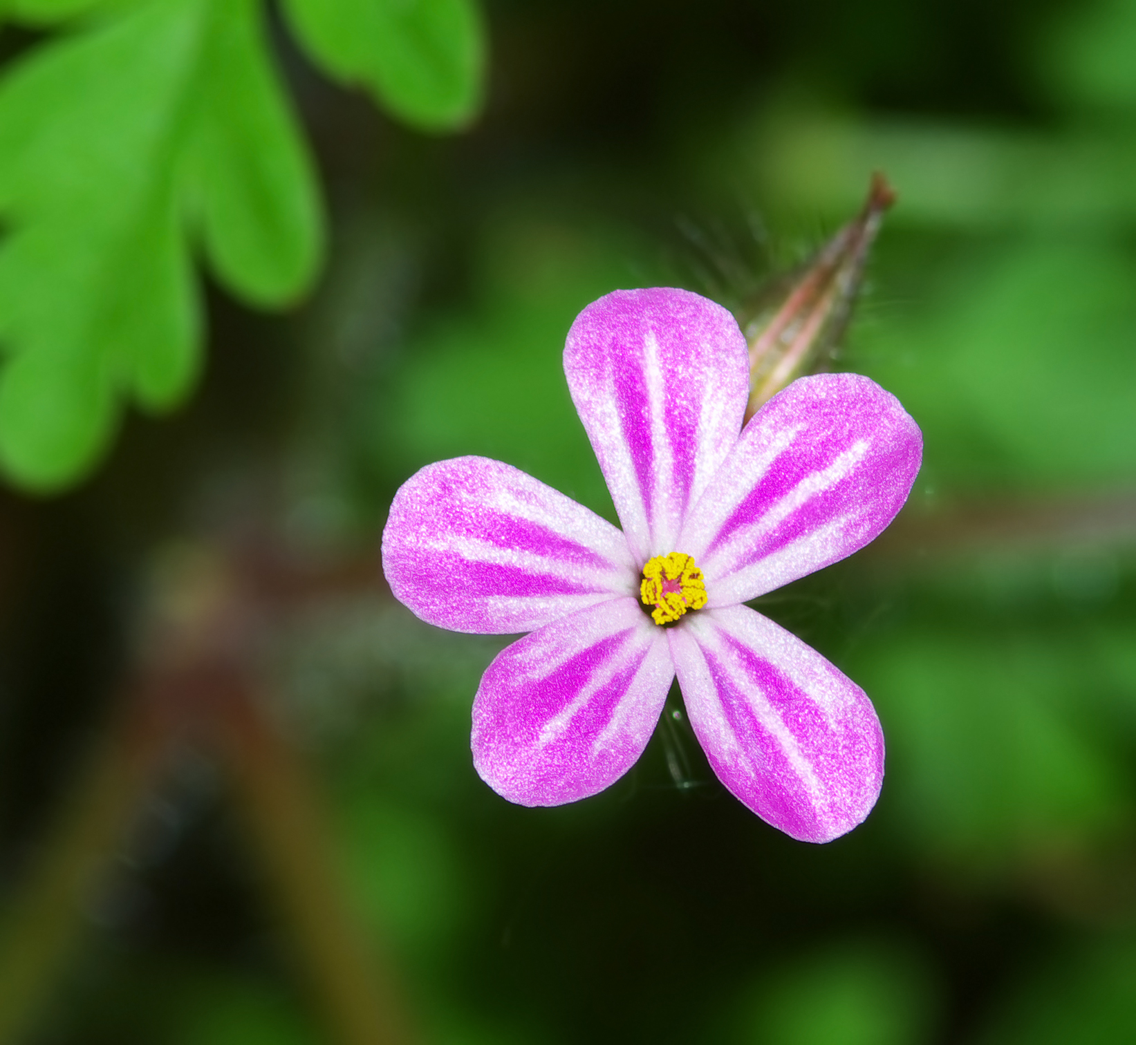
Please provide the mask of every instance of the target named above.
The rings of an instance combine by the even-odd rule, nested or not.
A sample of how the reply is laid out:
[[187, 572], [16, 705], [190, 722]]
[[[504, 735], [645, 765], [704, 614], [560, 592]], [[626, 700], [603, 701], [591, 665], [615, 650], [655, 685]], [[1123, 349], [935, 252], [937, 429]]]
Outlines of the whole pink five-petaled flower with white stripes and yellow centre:
[[686, 291], [590, 304], [565, 374], [623, 532], [463, 457], [408, 479], [383, 533], [391, 590], [423, 620], [531, 633], [477, 689], [477, 772], [524, 805], [595, 794], [642, 754], [677, 672], [713, 771], [745, 805], [794, 838], [850, 830], [884, 775], [871, 702], [743, 603], [876, 537], [919, 470], [919, 428], [868, 378], [824, 374], [743, 429], [745, 340]]

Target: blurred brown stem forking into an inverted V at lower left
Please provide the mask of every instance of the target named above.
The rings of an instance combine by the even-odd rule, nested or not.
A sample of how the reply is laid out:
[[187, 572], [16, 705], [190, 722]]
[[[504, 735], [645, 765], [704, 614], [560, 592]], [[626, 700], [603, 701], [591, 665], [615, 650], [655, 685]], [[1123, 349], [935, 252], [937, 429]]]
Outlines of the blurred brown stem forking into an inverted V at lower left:
[[[173, 569], [159, 571], [164, 583], [150, 613], [145, 682], [14, 897], [0, 944], [0, 1045], [19, 1040], [33, 1025], [83, 933], [84, 906], [109, 873], [172, 747], [185, 741], [207, 745], [227, 769], [265, 879], [335, 1039], [407, 1045], [410, 1023], [390, 971], [375, 962], [344, 904], [312, 781], [251, 697], [250, 621], [266, 612], [259, 566], [242, 570], [215, 550], [185, 551], [173, 557]], [[299, 594], [309, 579], [285, 577], [284, 586]], [[349, 570], [331, 586], [356, 580]]]

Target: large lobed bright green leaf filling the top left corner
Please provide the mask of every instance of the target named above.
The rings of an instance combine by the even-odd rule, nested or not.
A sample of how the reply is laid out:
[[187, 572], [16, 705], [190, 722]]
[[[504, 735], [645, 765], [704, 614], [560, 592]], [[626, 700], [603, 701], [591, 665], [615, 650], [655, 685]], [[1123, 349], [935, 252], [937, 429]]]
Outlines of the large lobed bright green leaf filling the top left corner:
[[310, 281], [310, 164], [253, 0], [158, 0], [42, 47], [0, 86], [0, 466], [58, 488], [125, 393], [175, 406], [199, 368], [199, 234], [258, 304]]

